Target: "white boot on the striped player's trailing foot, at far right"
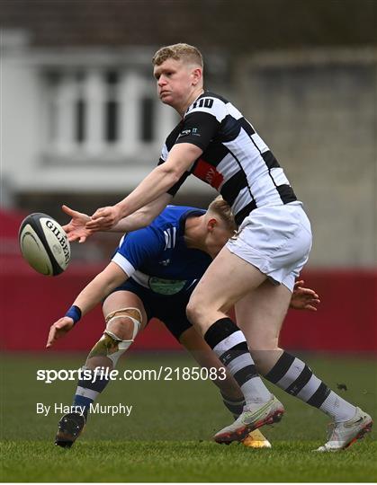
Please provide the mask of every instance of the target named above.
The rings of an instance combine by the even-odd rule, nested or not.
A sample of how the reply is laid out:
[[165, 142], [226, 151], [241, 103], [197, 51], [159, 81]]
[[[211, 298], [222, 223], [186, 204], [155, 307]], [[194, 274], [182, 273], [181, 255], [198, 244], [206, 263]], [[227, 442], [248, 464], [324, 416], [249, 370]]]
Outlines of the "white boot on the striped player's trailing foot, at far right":
[[330, 424], [328, 442], [319, 446], [316, 451], [335, 452], [344, 450], [355, 443], [356, 440], [364, 437], [365, 433], [371, 431], [373, 420], [363, 410], [356, 408], [355, 416], [348, 421]]

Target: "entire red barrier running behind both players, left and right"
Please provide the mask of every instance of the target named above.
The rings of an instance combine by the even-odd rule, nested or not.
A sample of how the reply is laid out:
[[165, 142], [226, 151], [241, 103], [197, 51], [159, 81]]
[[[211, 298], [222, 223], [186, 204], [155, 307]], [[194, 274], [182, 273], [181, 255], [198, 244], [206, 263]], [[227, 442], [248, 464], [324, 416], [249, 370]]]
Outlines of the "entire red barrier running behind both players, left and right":
[[[49, 326], [66, 313], [78, 292], [101, 266], [72, 264], [56, 278], [43, 277], [19, 257], [0, 260], [2, 348], [42, 350]], [[290, 310], [282, 331], [284, 348], [327, 351], [377, 350], [377, 270], [308, 270], [306, 284], [321, 299], [316, 313]], [[87, 350], [103, 331], [100, 307], [78, 323], [56, 350]], [[133, 348], [175, 349], [179, 345], [157, 321]]]

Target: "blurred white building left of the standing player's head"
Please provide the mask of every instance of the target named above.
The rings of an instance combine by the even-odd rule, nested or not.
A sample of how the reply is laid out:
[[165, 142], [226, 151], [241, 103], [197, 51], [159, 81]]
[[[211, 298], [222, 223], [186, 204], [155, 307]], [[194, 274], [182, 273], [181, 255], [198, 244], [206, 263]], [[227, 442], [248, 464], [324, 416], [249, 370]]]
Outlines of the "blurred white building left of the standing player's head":
[[3, 31], [2, 176], [12, 193], [131, 190], [176, 114], [157, 100], [150, 50], [30, 48]]

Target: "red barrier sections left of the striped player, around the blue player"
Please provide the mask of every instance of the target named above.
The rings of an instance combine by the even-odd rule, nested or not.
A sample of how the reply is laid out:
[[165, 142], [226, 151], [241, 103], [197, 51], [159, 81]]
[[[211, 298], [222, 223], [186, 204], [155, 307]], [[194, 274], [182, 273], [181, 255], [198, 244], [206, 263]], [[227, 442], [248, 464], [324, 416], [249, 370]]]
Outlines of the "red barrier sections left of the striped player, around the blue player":
[[[0, 260], [2, 295], [2, 348], [5, 350], [43, 350], [49, 326], [63, 316], [76, 295], [103, 269], [99, 265], [71, 265], [58, 277], [44, 277], [29, 268], [21, 258]], [[103, 332], [103, 314], [98, 305], [88, 313], [56, 350], [92, 348]], [[161, 322], [150, 322], [133, 348], [180, 348]], [[52, 351], [50, 349], [49, 351]]]

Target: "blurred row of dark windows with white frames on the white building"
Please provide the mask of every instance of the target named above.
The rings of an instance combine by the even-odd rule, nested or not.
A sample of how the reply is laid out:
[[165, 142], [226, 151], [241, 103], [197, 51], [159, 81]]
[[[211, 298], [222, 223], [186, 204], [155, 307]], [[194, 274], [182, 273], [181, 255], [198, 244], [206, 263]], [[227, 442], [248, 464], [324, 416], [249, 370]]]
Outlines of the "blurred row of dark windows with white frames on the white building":
[[153, 80], [135, 70], [62, 68], [45, 81], [50, 154], [132, 154], [160, 145], [162, 130], [173, 128]]

